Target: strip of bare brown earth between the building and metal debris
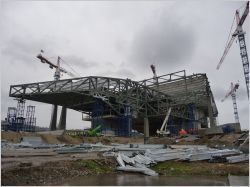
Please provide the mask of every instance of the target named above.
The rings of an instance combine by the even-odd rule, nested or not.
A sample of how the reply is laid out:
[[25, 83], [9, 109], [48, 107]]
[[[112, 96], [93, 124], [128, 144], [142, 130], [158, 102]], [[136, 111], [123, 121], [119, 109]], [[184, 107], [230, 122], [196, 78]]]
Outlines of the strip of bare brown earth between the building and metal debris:
[[[61, 134], [55, 135], [53, 133], [39, 134], [30, 132], [2, 132], [1, 139], [13, 143], [20, 143], [21, 137], [24, 136], [40, 136], [45, 143], [48, 144], [80, 144], [80, 143], [97, 143], [109, 145], [111, 143], [143, 143], [144, 138], [140, 137], [116, 137], [116, 136], [101, 136], [101, 137], [71, 137], [70, 135]], [[205, 144], [205, 145], [233, 145], [233, 143], [241, 136], [240, 133], [222, 134], [222, 135], [207, 135], [195, 141], [180, 141], [176, 143], [176, 137], [150, 137], [149, 143], [152, 144]]]

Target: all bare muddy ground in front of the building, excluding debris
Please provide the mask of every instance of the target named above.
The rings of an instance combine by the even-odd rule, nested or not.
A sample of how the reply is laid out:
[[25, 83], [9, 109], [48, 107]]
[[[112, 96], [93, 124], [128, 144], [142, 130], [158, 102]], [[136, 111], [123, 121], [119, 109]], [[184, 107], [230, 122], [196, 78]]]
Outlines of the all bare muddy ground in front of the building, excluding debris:
[[[49, 144], [143, 143], [143, 137], [71, 137], [66, 134], [2, 132], [1, 139], [20, 143], [22, 137], [40, 136]], [[241, 134], [203, 136], [196, 140], [176, 142], [175, 138], [150, 137], [151, 144], [205, 144], [209, 146], [233, 146]], [[79, 176], [122, 173], [116, 170], [114, 158], [103, 157], [100, 152], [81, 154], [55, 154], [50, 149], [2, 150], [1, 185], [60, 185], [63, 181]], [[206, 161], [164, 161], [153, 166], [162, 176], [249, 176], [249, 163], [208, 163]]]

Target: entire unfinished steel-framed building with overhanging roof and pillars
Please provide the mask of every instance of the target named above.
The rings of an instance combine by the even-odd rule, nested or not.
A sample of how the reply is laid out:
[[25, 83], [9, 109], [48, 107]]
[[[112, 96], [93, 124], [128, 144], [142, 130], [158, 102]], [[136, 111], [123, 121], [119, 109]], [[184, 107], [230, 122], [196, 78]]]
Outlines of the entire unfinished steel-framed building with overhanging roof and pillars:
[[10, 97], [53, 104], [51, 129], [56, 129], [57, 106], [62, 106], [59, 129], [66, 128], [66, 108], [82, 112], [102, 132], [131, 136], [156, 133], [168, 109], [168, 129], [196, 132], [215, 126], [218, 115], [206, 74], [186, 75], [185, 70], [133, 81], [111, 77], [80, 77], [11, 85]]

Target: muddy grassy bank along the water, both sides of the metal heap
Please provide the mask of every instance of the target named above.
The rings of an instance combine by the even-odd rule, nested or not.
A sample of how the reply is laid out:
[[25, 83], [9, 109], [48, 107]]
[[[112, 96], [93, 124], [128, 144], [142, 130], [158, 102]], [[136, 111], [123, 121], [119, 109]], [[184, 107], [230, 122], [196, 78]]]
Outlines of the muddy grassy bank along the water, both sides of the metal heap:
[[[79, 176], [118, 173], [114, 159], [77, 159], [46, 162], [40, 166], [22, 164], [14, 170], [2, 172], [3, 186], [13, 185], [56, 185], [67, 179]], [[228, 174], [248, 175], [248, 163], [227, 164], [207, 162], [166, 161], [154, 166], [156, 172], [164, 176], [211, 175], [227, 176]]]

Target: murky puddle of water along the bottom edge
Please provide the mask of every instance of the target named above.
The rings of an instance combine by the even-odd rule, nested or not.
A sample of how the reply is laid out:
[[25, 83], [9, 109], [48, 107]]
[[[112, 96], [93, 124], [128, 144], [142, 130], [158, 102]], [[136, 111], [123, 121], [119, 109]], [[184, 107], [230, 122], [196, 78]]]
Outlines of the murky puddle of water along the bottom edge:
[[227, 177], [211, 176], [146, 176], [139, 174], [106, 174], [83, 176], [63, 182], [64, 186], [227, 186]]

